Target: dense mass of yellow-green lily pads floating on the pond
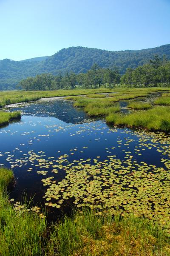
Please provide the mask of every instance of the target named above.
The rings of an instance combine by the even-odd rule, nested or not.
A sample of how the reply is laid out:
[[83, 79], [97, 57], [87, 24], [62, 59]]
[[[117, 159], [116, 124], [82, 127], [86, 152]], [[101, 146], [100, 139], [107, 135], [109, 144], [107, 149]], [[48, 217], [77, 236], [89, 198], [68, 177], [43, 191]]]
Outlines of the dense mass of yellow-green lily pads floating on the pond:
[[[110, 130], [112, 131], [112, 130]], [[134, 146], [134, 152], [129, 150], [130, 143], [135, 141], [129, 137], [117, 137], [118, 147], [123, 144], [127, 147], [124, 159], [116, 155], [108, 155], [107, 159], [75, 159], [68, 161], [68, 154], [55, 159], [43, 159], [43, 151], [36, 154], [29, 151], [30, 162], [35, 166], [48, 170], [52, 167], [55, 174], [65, 171], [65, 178], [57, 182], [54, 176], [42, 179], [43, 186], [47, 187], [45, 205], [60, 208], [70, 200], [77, 207], [89, 206], [109, 213], [134, 213], [135, 216], [145, 216], [159, 223], [167, 232], [170, 229], [170, 137], [164, 133], [146, 131], [122, 132], [138, 137], [139, 144]], [[123, 139], [125, 143], [123, 143]], [[84, 147], [86, 148], [86, 147]], [[141, 156], [142, 151], [156, 149], [161, 154], [162, 167], [149, 165], [144, 161], [136, 161], [134, 153]], [[111, 148], [112, 150], [115, 147]], [[70, 151], [74, 151], [71, 149]], [[109, 153], [109, 148], [106, 148]], [[37, 161], [37, 164], [35, 164]], [[47, 171], [37, 171], [46, 175]]]

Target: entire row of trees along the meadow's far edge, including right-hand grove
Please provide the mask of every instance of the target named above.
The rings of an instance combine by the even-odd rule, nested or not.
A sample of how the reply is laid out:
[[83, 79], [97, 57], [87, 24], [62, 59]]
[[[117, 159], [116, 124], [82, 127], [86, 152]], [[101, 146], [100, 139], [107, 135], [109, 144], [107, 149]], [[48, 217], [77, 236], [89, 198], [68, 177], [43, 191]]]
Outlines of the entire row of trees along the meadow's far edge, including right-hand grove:
[[125, 74], [119, 74], [118, 68], [101, 68], [94, 64], [86, 73], [59, 71], [53, 74], [40, 74], [23, 79], [17, 85], [26, 91], [45, 91], [74, 88], [114, 88], [116, 86], [153, 87], [170, 86], [170, 61], [164, 56], [155, 55], [149, 63], [137, 68], [127, 68]]

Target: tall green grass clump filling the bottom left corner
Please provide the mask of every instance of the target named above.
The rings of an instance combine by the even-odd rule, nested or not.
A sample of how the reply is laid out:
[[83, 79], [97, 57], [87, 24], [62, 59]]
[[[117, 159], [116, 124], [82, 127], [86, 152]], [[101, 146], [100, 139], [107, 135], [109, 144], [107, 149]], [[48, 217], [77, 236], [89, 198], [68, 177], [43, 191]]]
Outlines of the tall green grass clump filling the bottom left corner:
[[27, 209], [21, 215], [14, 210], [6, 193], [12, 178], [11, 170], [0, 168], [0, 255], [41, 256], [45, 219]]

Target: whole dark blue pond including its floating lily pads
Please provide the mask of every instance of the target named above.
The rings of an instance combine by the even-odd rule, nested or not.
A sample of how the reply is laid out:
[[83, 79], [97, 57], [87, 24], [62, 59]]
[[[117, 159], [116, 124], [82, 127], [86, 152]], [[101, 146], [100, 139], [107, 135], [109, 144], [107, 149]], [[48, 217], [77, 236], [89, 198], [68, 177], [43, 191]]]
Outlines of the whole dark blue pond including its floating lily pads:
[[14, 171], [14, 202], [25, 191], [49, 216], [73, 205], [119, 208], [170, 228], [169, 134], [109, 127], [62, 98], [6, 110], [22, 112], [20, 122], [0, 129], [0, 164]]

